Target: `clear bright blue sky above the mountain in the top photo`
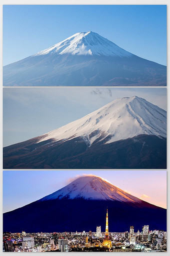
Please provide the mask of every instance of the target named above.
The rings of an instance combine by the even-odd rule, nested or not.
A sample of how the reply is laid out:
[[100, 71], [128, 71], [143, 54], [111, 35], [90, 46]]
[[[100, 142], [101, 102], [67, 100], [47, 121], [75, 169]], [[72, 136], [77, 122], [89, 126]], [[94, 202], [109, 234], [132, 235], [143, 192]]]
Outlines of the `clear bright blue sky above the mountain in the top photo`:
[[166, 5], [3, 5], [3, 65], [89, 30], [166, 65]]

